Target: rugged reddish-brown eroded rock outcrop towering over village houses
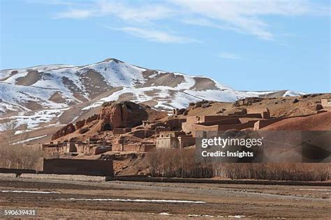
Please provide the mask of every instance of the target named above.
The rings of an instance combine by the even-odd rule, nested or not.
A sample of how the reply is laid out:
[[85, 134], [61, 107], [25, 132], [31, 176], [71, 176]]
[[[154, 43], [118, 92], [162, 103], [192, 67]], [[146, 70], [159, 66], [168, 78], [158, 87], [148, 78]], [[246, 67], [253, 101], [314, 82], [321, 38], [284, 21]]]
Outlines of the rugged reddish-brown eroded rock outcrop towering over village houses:
[[151, 109], [144, 104], [135, 102], [105, 102], [99, 113], [87, 119], [78, 120], [75, 125], [70, 123], [59, 129], [52, 140], [59, 139], [73, 132], [84, 134], [89, 130], [95, 132], [111, 131], [119, 127], [136, 127], [142, 125], [142, 120], [159, 120], [168, 116], [165, 111]]

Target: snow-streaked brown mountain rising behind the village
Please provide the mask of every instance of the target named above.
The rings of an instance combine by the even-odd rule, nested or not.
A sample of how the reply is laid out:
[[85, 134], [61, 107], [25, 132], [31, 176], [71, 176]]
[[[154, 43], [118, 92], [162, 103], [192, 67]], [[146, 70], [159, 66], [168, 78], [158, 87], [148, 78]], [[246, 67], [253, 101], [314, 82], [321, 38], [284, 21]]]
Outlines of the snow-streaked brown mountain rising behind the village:
[[233, 102], [244, 97], [301, 95], [293, 91], [235, 91], [207, 77], [149, 70], [115, 58], [92, 65], [40, 65], [0, 71], [0, 119], [28, 128], [66, 124], [105, 101], [131, 100], [156, 109], [189, 102]]

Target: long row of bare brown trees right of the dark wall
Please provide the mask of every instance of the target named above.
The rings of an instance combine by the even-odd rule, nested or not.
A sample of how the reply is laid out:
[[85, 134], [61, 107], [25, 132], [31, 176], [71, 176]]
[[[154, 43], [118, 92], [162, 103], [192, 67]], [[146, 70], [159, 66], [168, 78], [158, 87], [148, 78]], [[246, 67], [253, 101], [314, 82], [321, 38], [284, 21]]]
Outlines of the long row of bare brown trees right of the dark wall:
[[154, 177], [324, 181], [330, 164], [196, 164], [195, 149], [156, 150], [147, 155]]

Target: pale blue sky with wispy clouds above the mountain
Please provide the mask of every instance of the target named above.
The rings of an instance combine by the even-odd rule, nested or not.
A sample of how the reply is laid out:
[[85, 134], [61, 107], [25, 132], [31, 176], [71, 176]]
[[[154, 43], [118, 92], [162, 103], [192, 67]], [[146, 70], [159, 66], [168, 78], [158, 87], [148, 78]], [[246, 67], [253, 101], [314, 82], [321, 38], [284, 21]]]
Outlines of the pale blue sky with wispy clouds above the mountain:
[[330, 1], [0, 0], [0, 69], [117, 58], [240, 91], [331, 92]]

